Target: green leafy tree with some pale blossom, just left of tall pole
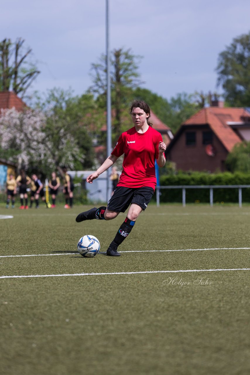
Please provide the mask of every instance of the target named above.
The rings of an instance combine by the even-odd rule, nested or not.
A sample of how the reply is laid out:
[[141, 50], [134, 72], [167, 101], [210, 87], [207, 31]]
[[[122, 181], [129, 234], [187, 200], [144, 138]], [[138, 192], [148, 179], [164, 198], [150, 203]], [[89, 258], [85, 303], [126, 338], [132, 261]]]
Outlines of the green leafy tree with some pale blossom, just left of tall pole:
[[44, 132], [46, 141], [52, 144], [55, 167], [92, 168], [93, 135], [98, 133], [100, 117], [93, 96], [73, 97], [70, 90], [52, 89], [39, 106], [45, 113]]

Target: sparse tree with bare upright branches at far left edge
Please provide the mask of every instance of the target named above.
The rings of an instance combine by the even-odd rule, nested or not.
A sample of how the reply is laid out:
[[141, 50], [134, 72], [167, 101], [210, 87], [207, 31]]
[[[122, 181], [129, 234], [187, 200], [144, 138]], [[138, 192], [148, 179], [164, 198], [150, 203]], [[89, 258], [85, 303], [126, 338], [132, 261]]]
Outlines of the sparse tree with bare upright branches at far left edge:
[[34, 63], [27, 60], [32, 49], [23, 49], [24, 39], [15, 43], [10, 39], [0, 42], [0, 91], [13, 90], [21, 97], [40, 73]]

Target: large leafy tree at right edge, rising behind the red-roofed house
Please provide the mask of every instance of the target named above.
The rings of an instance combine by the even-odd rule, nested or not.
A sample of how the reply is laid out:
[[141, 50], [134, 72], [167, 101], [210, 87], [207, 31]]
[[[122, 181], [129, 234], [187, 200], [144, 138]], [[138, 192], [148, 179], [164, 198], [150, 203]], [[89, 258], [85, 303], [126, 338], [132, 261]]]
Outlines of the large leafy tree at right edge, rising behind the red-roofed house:
[[218, 86], [222, 84], [225, 99], [232, 107], [250, 103], [250, 32], [233, 39], [219, 54]]

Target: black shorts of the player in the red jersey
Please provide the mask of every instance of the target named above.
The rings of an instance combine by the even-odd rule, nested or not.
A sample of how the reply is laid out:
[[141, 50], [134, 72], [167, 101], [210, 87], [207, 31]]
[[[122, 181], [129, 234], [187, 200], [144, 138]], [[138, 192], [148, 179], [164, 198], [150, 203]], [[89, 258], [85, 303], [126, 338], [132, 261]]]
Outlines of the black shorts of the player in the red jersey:
[[153, 187], [118, 186], [108, 202], [108, 210], [125, 212], [131, 203], [136, 203], [145, 210], [154, 194]]

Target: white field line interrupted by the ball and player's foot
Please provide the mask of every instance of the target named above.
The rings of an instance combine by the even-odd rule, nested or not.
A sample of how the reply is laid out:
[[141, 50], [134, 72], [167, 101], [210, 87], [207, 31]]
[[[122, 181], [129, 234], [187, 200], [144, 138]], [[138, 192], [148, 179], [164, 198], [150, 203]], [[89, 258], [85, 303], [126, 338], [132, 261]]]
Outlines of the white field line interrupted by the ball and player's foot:
[[[125, 250], [120, 253], [151, 253], [151, 252], [171, 252], [171, 251], [206, 251], [206, 250], [250, 250], [250, 248], [208, 248], [208, 249], [181, 249], [181, 250]], [[28, 255], [0, 255], [0, 258], [14, 258], [14, 257], [51, 257], [53, 255], [77, 255], [75, 253], [60, 253], [60, 254], [28, 254]], [[100, 254], [106, 254], [100, 251]]]

